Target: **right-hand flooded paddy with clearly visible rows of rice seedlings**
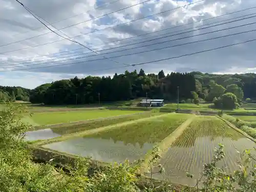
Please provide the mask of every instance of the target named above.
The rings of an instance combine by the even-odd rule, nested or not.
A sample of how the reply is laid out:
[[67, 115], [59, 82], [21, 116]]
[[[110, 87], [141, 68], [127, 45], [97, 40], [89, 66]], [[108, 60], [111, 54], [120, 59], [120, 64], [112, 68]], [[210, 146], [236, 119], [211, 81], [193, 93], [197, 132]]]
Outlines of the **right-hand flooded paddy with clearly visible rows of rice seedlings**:
[[164, 166], [166, 172], [156, 178], [195, 185], [198, 178], [187, 178], [186, 173], [199, 175], [204, 163], [210, 162], [214, 156], [214, 149], [219, 143], [224, 144], [226, 154], [219, 166], [228, 173], [238, 169], [237, 162], [240, 156], [237, 151], [242, 152], [256, 146], [253, 141], [233, 130], [221, 119], [215, 116], [199, 116], [163, 155], [159, 163]]

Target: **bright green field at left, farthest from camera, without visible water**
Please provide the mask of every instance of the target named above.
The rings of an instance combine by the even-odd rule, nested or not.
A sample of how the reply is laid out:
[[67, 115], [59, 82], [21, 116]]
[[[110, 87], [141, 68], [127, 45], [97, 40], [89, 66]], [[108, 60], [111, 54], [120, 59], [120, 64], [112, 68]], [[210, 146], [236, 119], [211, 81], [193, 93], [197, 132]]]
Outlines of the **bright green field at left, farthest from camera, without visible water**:
[[70, 111], [70, 112], [51, 112], [51, 113], [35, 113], [32, 117], [27, 118], [32, 125], [47, 125], [57, 123], [69, 123], [73, 121], [81, 121], [88, 119], [97, 119], [104, 117], [112, 117], [117, 115], [128, 115], [143, 111], [125, 111], [125, 110], [92, 110], [92, 111]]

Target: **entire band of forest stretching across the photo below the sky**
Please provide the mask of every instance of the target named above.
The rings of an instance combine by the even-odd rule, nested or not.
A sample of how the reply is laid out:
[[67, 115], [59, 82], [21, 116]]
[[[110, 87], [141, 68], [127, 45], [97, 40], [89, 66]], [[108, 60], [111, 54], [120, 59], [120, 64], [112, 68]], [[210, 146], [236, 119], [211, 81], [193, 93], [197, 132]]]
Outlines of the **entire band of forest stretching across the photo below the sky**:
[[[238, 101], [256, 99], [256, 74], [208, 74], [201, 72], [145, 74], [143, 69], [113, 77], [74, 77], [42, 84], [33, 90], [20, 87], [0, 87], [0, 99], [30, 100], [45, 104], [83, 104], [100, 101], [130, 100], [138, 97], [176, 101], [179, 98], [199, 98], [216, 102], [223, 94], [232, 93]], [[229, 95], [230, 96], [230, 95]]]

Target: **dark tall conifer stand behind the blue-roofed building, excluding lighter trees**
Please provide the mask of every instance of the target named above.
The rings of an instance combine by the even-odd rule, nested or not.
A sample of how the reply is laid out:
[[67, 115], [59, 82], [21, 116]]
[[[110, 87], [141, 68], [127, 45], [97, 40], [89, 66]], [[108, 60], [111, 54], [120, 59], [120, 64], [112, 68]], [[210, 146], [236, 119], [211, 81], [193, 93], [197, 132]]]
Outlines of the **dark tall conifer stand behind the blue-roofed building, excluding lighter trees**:
[[130, 100], [138, 97], [176, 100], [177, 87], [181, 98], [192, 98], [196, 79], [189, 73], [145, 74], [141, 69], [113, 77], [87, 76], [42, 84], [31, 91], [32, 103], [84, 104], [100, 101]]

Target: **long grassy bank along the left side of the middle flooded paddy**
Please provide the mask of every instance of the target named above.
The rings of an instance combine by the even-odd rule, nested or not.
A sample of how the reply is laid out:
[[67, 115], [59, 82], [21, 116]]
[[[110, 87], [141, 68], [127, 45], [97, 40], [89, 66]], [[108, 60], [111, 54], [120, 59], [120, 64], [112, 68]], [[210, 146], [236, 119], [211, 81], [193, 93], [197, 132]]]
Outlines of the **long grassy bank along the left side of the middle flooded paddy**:
[[108, 130], [112, 130], [112, 129], [119, 129], [121, 126], [124, 126], [124, 125], [134, 124], [134, 123], [142, 122], [142, 121], [145, 121], [145, 120], [156, 119], [156, 118], [159, 118], [159, 117], [168, 116], [170, 114], [171, 113], [167, 113], [167, 114], [163, 114], [163, 115], [158, 115], [158, 116], [153, 116], [153, 117], [146, 117], [146, 118], [141, 118], [141, 119], [132, 120], [132, 121], [124, 121], [124, 122], [117, 123], [117, 124], [114, 124], [114, 125], [103, 126], [103, 127], [97, 128], [97, 129], [87, 130], [87, 131], [73, 133], [73, 134], [69, 134], [69, 135], [63, 135], [63, 136], [55, 137], [55, 138], [48, 139], [48, 140], [37, 140], [37, 141], [32, 142], [32, 143], [36, 144], [36, 145], [45, 145], [45, 144], [50, 144], [50, 143], [53, 143], [53, 142], [59, 142], [59, 141], [64, 141], [64, 140], [68, 140], [68, 139], [74, 139], [74, 138], [77, 138], [77, 137], [83, 137], [83, 136], [86, 136], [86, 135], [91, 135], [91, 134], [95, 134], [95, 133], [99, 133], [99, 132], [103, 132], [103, 131], [108, 131]]

